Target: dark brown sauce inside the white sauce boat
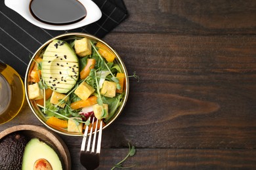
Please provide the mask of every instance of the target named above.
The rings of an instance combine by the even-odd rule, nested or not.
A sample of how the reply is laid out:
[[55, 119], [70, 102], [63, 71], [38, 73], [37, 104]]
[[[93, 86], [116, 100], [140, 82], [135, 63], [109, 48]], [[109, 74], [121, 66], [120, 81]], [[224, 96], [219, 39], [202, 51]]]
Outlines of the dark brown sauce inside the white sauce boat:
[[32, 0], [30, 12], [41, 22], [53, 25], [74, 24], [85, 18], [85, 7], [76, 0]]

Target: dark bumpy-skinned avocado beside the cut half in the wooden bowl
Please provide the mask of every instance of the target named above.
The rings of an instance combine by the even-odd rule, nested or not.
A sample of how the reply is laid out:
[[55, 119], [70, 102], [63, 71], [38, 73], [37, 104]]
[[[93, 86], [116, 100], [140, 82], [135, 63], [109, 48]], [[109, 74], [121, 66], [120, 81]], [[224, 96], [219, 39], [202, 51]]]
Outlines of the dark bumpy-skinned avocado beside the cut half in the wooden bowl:
[[0, 141], [0, 169], [17, 170], [22, 167], [22, 156], [28, 139], [21, 133], [11, 133]]

